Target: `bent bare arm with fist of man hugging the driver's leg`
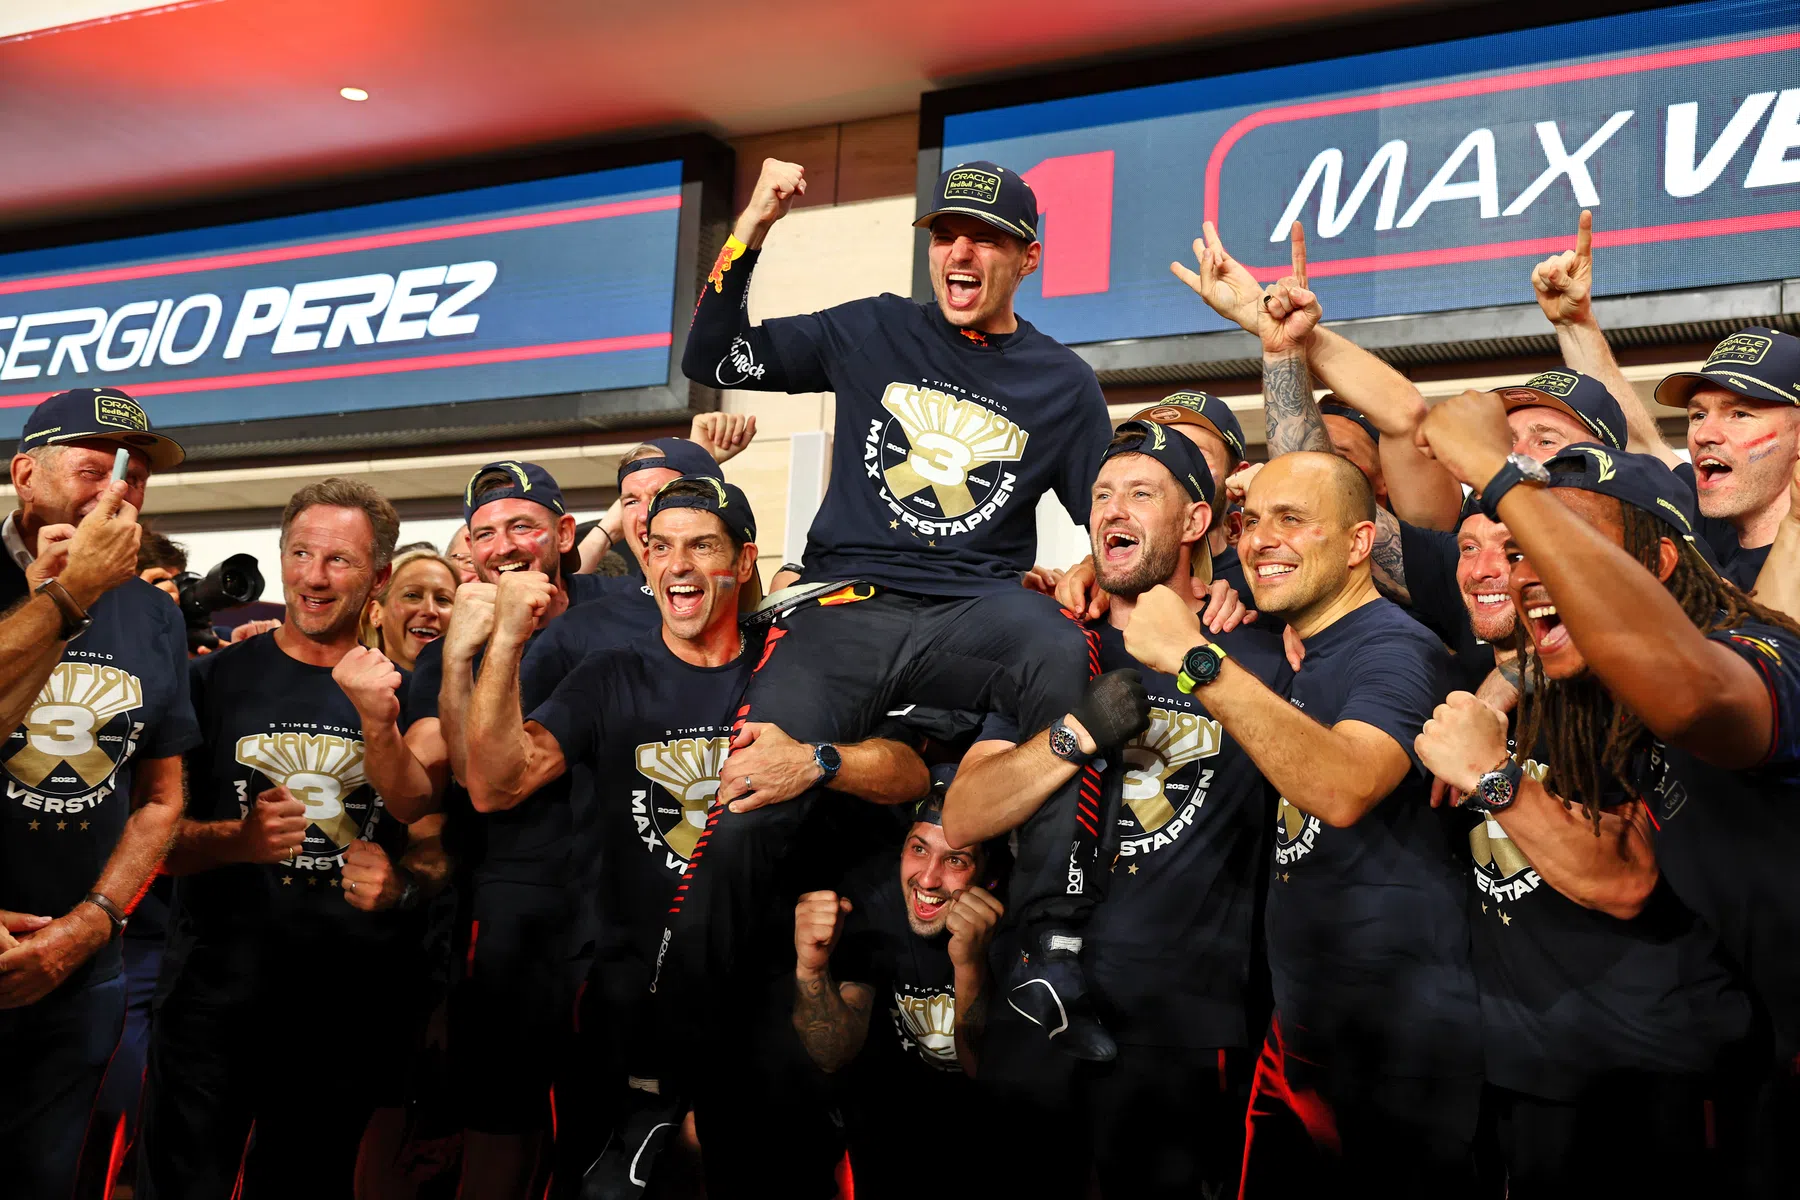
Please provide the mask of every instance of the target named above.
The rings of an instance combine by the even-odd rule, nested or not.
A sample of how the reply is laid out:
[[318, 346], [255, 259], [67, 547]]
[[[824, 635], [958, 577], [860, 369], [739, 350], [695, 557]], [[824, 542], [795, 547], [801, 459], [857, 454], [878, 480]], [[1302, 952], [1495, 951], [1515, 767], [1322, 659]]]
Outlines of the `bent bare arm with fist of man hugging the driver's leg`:
[[500, 578], [493, 633], [468, 705], [464, 774], [459, 775], [479, 813], [517, 808], [567, 770], [562, 745], [542, 725], [527, 721], [518, 702], [518, 660], [554, 592], [554, 585], [535, 570]]

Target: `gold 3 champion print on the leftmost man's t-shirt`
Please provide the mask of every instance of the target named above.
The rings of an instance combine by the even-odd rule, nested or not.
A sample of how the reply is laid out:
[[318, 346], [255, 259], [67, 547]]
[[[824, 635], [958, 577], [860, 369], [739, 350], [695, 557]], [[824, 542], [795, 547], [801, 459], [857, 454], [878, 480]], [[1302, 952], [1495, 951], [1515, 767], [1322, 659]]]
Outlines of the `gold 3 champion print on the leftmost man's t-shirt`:
[[79, 779], [74, 792], [97, 788], [135, 745], [103, 730], [113, 718], [144, 707], [144, 685], [130, 671], [97, 662], [59, 662], [20, 727], [25, 745], [5, 759], [5, 770], [27, 788], [54, 784], [63, 765]]

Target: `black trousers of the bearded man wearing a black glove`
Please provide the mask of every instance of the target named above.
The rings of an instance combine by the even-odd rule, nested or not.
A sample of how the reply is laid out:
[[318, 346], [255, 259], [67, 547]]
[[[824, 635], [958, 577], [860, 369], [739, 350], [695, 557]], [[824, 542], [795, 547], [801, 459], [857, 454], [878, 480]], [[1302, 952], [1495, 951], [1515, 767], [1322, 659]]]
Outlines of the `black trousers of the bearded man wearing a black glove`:
[[990, 1195], [1084, 1200], [1089, 1175], [1105, 1200], [1235, 1195], [1251, 1063], [1247, 1049], [1129, 1043], [1111, 1063], [1082, 1063], [995, 1013], [977, 1079], [999, 1124], [988, 1157], [1003, 1180]]

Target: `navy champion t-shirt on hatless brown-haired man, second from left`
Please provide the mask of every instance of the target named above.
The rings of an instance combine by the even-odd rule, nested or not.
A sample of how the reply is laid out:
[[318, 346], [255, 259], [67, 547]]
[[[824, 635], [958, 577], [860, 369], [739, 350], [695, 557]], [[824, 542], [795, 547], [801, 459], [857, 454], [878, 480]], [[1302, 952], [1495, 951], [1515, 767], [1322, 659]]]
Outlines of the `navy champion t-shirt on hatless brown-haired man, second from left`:
[[[401, 673], [401, 700], [409, 685]], [[286, 786], [310, 824], [292, 860], [180, 880], [184, 975], [256, 990], [333, 966], [385, 975], [412, 961], [423, 914], [364, 912], [342, 894], [351, 842], [374, 842], [398, 864], [407, 828], [364, 774], [362, 718], [331, 667], [292, 658], [261, 633], [194, 658], [193, 694], [203, 743], [187, 756], [187, 815], [238, 820], [259, 793]]]

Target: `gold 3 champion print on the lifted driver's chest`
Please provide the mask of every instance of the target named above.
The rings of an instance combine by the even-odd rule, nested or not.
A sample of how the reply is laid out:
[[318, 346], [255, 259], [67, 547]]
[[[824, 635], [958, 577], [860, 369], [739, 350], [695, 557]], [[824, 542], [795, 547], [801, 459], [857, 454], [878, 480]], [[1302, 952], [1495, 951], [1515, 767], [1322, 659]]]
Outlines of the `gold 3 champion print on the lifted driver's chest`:
[[[970, 475], [988, 462], [1017, 462], [1030, 439], [1017, 425], [972, 399], [907, 383], [889, 383], [882, 408], [895, 417], [907, 439], [905, 448], [889, 448], [900, 453], [882, 455], [882, 477], [896, 500], [929, 516], [956, 518], [970, 513], [979, 504], [968, 486]], [[986, 495], [997, 488], [995, 480], [976, 482]], [[931, 489], [929, 502], [920, 497], [925, 489]]]

